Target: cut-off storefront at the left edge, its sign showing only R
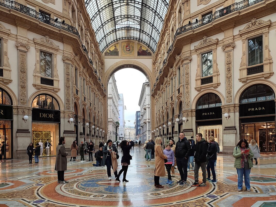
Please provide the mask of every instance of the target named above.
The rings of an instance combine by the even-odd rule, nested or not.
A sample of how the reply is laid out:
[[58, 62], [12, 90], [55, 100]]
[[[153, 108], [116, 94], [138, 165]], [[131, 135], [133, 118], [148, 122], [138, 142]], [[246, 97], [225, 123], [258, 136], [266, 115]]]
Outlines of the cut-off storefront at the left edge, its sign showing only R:
[[0, 88], [0, 154], [3, 159], [12, 158], [12, 99]]

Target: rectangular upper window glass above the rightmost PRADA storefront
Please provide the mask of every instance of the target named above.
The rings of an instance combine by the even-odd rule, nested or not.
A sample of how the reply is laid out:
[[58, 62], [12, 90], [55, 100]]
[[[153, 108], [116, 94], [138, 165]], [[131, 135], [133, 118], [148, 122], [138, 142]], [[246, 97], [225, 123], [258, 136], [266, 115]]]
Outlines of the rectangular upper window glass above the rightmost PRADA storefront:
[[263, 62], [262, 36], [248, 39], [248, 66]]

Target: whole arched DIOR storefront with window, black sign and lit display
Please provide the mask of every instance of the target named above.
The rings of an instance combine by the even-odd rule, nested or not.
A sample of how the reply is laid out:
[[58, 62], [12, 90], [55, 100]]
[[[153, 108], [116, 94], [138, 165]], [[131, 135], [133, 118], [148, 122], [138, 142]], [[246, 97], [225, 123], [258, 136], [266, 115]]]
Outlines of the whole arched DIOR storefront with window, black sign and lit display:
[[47, 140], [51, 142], [49, 156], [55, 155], [60, 137], [60, 110], [57, 100], [48, 94], [40, 94], [32, 102], [33, 144], [43, 143], [43, 156], [47, 156]]

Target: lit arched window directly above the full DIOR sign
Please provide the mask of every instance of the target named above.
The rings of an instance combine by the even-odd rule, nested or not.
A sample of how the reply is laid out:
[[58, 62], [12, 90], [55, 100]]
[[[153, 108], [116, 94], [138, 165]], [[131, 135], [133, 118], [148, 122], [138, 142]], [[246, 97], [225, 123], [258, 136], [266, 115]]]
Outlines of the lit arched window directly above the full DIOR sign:
[[59, 110], [59, 103], [53, 96], [49, 94], [39, 94], [34, 98], [32, 107]]

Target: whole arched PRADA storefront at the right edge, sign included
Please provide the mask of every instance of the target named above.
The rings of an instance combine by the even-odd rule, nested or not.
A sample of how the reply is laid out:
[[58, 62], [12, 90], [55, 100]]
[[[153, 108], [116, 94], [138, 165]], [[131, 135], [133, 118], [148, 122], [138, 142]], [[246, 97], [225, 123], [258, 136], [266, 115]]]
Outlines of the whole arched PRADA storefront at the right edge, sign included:
[[256, 140], [261, 152], [275, 152], [275, 94], [265, 85], [247, 88], [240, 98], [240, 136]]

